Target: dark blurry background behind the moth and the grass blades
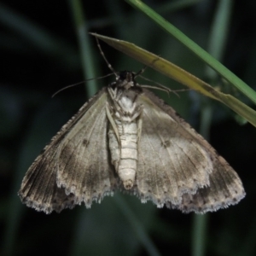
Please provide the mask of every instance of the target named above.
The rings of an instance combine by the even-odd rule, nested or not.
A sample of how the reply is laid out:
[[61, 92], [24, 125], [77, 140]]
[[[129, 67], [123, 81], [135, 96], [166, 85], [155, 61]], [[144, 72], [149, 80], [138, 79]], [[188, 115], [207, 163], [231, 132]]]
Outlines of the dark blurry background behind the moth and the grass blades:
[[[157, 209], [151, 202], [142, 204], [135, 196], [118, 194], [104, 198], [101, 204], [94, 203], [91, 209], [81, 206], [46, 215], [25, 207], [17, 196], [32, 160], [88, 100], [89, 85], [65, 90], [53, 99], [52, 94], [89, 79], [90, 75], [110, 73], [91, 37], [90, 67], [94, 73], [85, 78], [71, 2], [0, 3], [0, 255], [158, 255], [152, 247], [161, 255], [191, 255], [195, 214]], [[147, 1], [207, 49], [218, 1], [198, 1], [184, 8], [169, 9], [168, 4], [174, 2], [177, 1]], [[83, 3], [89, 32], [137, 44], [245, 100], [237, 90], [224, 86], [221, 79], [211, 81], [204, 63], [124, 1]], [[221, 60], [254, 90], [255, 12], [255, 1], [234, 1]], [[138, 71], [143, 67], [104, 43], [102, 48], [116, 70]], [[149, 68], [144, 76], [177, 88], [171, 79]], [[97, 89], [109, 81], [96, 80]], [[206, 234], [200, 237], [206, 241], [206, 255], [255, 255], [254, 127], [241, 125], [230, 109], [192, 91], [171, 96], [171, 105], [197, 130], [204, 122], [202, 111], [211, 109], [208, 139], [234, 167], [247, 192], [237, 206], [207, 213]]]

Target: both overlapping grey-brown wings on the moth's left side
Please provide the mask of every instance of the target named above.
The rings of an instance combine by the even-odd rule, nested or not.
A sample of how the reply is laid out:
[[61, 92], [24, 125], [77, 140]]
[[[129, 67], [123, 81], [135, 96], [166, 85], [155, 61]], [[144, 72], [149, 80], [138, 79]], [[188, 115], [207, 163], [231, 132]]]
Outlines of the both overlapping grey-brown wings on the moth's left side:
[[115, 186], [108, 160], [106, 88], [80, 108], [26, 172], [19, 195], [28, 207], [61, 212], [101, 201]]

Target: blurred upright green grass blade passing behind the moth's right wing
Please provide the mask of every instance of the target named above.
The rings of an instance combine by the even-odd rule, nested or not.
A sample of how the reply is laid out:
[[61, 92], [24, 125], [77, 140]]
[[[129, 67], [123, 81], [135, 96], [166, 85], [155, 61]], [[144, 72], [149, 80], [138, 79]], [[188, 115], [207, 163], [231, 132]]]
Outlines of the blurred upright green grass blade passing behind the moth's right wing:
[[[209, 36], [208, 51], [217, 60], [221, 60], [226, 44], [227, 32], [230, 25], [230, 10], [232, 1], [219, 1], [218, 8], [212, 21], [212, 29]], [[217, 73], [212, 68], [206, 68], [206, 76], [209, 81], [216, 81], [218, 79]], [[212, 104], [206, 101], [204, 108], [201, 108], [201, 127], [200, 133], [209, 141], [209, 131], [212, 121]], [[194, 214], [193, 216], [193, 229], [191, 239], [191, 253], [192, 256], [206, 255], [207, 248], [207, 232], [208, 214]]]

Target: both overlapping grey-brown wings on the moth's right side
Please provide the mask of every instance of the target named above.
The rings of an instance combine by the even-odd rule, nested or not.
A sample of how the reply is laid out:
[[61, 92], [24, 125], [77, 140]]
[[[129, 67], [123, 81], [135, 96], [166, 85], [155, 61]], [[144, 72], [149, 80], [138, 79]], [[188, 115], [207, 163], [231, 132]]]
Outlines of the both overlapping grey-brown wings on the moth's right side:
[[207, 141], [148, 90], [143, 106], [137, 181], [141, 200], [183, 212], [216, 211], [245, 196], [240, 178]]

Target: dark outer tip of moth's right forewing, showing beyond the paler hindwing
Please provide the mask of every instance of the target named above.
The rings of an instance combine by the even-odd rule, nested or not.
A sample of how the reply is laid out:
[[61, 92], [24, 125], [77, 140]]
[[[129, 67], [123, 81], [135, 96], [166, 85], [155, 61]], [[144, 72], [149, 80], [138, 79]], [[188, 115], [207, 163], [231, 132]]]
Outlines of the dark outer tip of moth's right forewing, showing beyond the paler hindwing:
[[216, 155], [212, 160], [214, 169], [210, 174], [210, 186], [198, 189], [195, 195], [184, 194], [180, 205], [168, 202], [166, 207], [183, 212], [213, 212], [235, 205], [245, 196], [241, 179], [224, 158]]

